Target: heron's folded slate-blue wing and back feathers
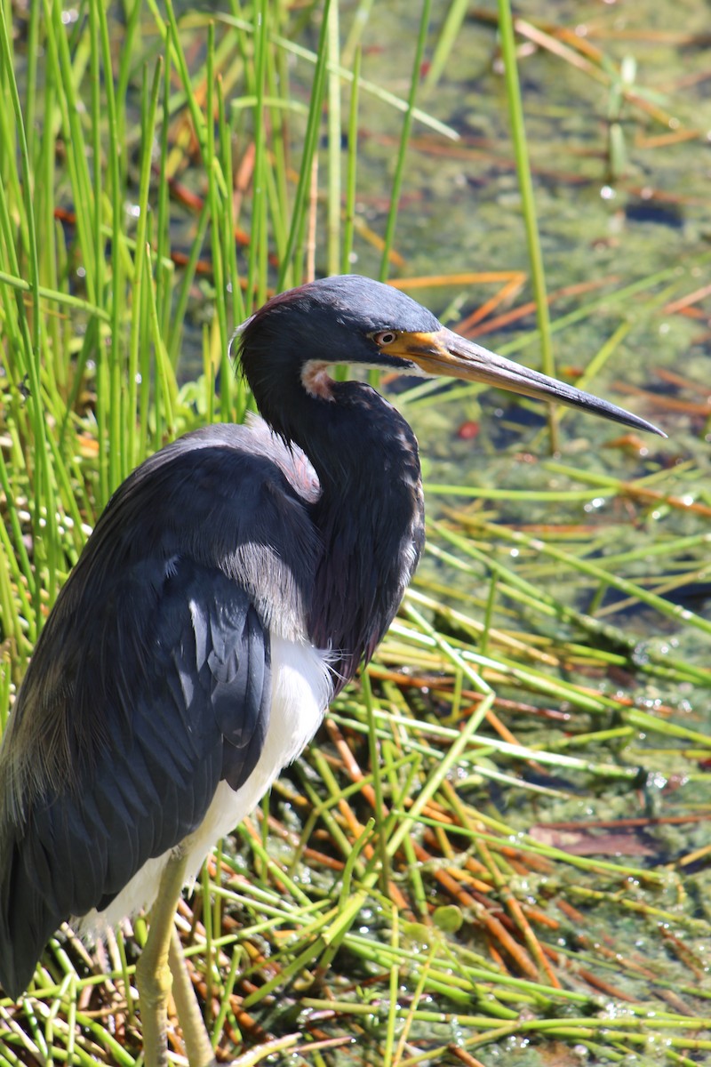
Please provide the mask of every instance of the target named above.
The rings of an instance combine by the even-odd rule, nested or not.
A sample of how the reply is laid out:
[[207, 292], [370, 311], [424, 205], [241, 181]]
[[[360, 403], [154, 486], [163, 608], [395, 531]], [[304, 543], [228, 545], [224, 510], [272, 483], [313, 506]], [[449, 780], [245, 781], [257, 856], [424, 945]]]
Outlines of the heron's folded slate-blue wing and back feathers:
[[271, 696], [260, 607], [275, 574], [277, 609], [285, 585], [308, 588], [316, 545], [284, 473], [219, 429], [124, 483], [35, 651], [0, 764], [11, 992], [63, 920], [104, 908], [199, 826], [221, 780], [239, 789], [259, 759]]

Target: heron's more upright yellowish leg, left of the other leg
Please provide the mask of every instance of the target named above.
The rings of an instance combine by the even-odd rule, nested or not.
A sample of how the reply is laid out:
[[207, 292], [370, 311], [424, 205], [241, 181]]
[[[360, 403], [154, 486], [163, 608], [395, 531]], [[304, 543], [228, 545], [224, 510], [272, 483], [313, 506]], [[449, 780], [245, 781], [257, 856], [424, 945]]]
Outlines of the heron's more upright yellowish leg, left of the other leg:
[[184, 877], [185, 855], [176, 849], [161, 875], [148, 937], [135, 967], [145, 1067], [167, 1067], [167, 1001], [172, 986], [168, 951]]

